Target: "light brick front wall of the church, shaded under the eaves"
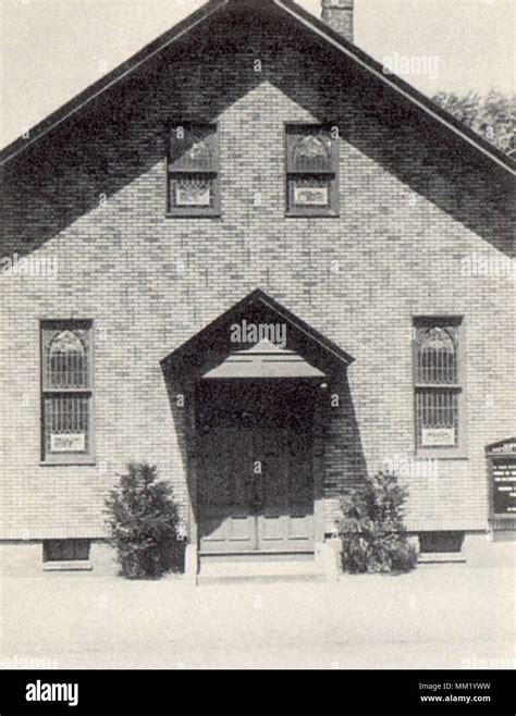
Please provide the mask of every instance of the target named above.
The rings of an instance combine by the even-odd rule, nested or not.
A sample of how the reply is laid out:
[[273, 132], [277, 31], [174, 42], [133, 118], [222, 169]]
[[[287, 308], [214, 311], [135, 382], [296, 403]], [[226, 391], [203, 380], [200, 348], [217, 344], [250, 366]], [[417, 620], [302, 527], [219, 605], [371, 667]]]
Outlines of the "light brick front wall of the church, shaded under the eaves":
[[[348, 393], [331, 386], [345, 399], [327, 425], [329, 529], [343, 486], [414, 452], [411, 316], [465, 317], [468, 459], [406, 478], [407, 519], [482, 529], [483, 449], [514, 433], [515, 284], [462, 262], [511, 254], [506, 178], [294, 24], [233, 21], [238, 34], [209, 21], [5, 170], [1, 256], [58, 273], [1, 276], [4, 536], [102, 536], [130, 459], [185, 504], [160, 360], [256, 287], [355, 358]], [[163, 127], [192, 118], [219, 122], [221, 219], [164, 215]], [[341, 215], [285, 218], [284, 124], [314, 121], [340, 127]], [[97, 465], [41, 466], [38, 321], [72, 317], [95, 320]]]

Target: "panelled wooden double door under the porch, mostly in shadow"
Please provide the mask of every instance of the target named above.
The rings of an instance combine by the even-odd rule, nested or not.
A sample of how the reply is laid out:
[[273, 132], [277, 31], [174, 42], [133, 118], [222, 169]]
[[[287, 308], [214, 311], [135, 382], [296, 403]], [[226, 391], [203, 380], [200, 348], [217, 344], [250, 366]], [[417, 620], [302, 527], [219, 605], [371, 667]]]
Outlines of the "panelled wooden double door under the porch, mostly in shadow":
[[206, 381], [196, 411], [200, 552], [311, 552], [312, 385]]

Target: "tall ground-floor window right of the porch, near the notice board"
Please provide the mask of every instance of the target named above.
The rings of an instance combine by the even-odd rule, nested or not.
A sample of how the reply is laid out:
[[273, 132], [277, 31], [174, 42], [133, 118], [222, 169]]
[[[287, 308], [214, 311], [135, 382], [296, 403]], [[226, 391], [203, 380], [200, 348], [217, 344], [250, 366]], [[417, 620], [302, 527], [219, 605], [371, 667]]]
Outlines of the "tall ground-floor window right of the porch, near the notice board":
[[416, 320], [414, 358], [419, 450], [450, 453], [464, 447], [459, 351], [459, 319]]

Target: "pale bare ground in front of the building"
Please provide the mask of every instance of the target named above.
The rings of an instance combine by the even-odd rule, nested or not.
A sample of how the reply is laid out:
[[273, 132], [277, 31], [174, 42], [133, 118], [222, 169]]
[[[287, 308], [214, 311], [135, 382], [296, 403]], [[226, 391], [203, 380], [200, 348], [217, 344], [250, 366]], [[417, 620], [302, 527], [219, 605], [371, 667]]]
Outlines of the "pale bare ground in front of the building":
[[515, 571], [420, 566], [337, 583], [8, 578], [3, 668], [512, 668]]

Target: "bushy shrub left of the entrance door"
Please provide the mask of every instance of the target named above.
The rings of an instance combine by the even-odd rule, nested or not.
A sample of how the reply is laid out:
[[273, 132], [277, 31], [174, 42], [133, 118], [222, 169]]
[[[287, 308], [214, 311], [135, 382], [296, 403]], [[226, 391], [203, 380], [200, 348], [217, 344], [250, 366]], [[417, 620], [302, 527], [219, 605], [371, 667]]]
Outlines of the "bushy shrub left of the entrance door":
[[156, 467], [128, 465], [106, 506], [122, 576], [158, 578], [182, 570], [177, 506], [171, 485], [158, 480]]

